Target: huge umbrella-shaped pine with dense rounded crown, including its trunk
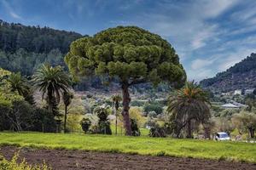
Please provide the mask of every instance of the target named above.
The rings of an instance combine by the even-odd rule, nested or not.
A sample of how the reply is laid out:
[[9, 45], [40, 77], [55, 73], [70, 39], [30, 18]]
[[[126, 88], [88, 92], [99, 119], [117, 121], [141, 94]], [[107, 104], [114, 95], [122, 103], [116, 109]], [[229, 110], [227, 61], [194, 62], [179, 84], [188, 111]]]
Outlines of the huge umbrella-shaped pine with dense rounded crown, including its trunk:
[[179, 87], [186, 80], [171, 44], [136, 26], [118, 26], [72, 42], [65, 62], [73, 77], [96, 74], [104, 77], [105, 82], [119, 81], [126, 135], [131, 135], [129, 88], [132, 85], [170, 82]]

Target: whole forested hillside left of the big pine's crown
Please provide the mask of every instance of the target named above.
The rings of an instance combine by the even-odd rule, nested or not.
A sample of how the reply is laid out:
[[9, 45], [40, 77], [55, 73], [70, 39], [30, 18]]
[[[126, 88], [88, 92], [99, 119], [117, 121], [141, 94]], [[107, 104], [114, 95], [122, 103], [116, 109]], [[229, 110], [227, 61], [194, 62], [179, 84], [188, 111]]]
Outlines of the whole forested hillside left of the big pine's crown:
[[30, 76], [42, 63], [65, 66], [64, 55], [79, 37], [82, 35], [73, 31], [0, 20], [0, 67]]

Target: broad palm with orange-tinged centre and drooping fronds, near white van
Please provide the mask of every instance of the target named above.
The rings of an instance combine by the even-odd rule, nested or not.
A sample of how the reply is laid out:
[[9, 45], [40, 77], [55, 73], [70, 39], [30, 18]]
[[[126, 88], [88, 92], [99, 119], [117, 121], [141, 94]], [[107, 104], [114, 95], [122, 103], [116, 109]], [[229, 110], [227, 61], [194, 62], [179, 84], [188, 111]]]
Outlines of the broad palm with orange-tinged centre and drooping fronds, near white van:
[[184, 88], [171, 94], [167, 112], [171, 115], [177, 137], [183, 127], [187, 127], [187, 138], [192, 138], [192, 121], [198, 126], [211, 117], [208, 105], [211, 104], [207, 93], [194, 81], [186, 82]]

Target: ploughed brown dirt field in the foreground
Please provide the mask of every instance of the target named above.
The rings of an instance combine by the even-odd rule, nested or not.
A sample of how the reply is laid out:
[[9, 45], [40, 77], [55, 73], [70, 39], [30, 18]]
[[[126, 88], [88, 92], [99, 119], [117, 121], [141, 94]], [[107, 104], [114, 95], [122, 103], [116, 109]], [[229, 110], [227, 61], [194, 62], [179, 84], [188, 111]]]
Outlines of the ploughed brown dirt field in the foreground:
[[[10, 159], [19, 150], [14, 146], [0, 148], [0, 155]], [[256, 170], [256, 164], [212, 161], [194, 158], [167, 156], [138, 156], [82, 150], [38, 150], [20, 149], [20, 158], [30, 164], [46, 162], [53, 169], [247, 169]]]

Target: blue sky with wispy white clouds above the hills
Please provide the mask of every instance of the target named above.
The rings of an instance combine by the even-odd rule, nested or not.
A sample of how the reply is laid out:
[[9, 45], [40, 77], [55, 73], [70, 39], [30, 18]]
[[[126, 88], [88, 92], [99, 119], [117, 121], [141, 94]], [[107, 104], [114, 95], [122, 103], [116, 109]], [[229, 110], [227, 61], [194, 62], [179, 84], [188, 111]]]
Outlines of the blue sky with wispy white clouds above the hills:
[[140, 26], [168, 40], [196, 81], [256, 52], [255, 0], [0, 0], [0, 19], [83, 35]]

